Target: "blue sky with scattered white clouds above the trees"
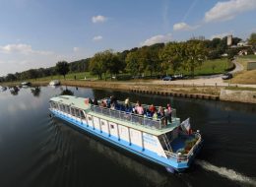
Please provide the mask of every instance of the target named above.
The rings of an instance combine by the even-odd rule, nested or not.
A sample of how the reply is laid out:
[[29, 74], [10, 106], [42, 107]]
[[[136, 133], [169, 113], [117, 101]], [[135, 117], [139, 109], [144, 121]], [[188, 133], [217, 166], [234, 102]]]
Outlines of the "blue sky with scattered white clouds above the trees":
[[0, 0], [0, 76], [193, 36], [246, 39], [256, 0]]

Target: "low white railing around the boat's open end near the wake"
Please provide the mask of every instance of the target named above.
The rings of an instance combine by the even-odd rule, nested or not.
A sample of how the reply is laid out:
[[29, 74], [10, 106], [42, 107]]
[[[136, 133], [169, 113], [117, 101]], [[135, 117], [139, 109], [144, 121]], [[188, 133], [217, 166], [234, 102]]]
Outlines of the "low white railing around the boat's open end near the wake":
[[171, 153], [169, 151], [166, 151], [164, 150], [164, 153], [165, 155], [168, 157], [168, 158], [173, 158], [173, 159], [176, 159], [177, 162], [180, 162], [180, 161], [188, 161], [190, 156], [193, 156], [194, 154], [194, 151], [198, 148], [199, 144], [202, 142], [202, 138], [201, 138], [201, 135], [200, 133], [193, 133], [194, 136], [198, 139], [196, 144], [191, 148], [191, 150], [189, 151], [188, 154], [181, 154], [181, 153]]

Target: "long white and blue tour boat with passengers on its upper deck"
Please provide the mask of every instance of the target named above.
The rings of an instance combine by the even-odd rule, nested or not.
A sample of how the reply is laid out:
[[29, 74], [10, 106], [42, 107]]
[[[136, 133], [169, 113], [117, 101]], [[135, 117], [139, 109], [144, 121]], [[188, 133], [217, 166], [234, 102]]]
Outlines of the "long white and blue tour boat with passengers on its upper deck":
[[[173, 108], [170, 120], [166, 116], [156, 119], [138, 115], [127, 110], [120, 100], [116, 101], [114, 108], [100, 105], [107, 99], [93, 103], [90, 98], [59, 95], [50, 98], [49, 110], [53, 116], [116, 147], [156, 162], [168, 172], [184, 171], [190, 166], [203, 140], [199, 131], [190, 129], [189, 118], [180, 123]], [[135, 103], [130, 103], [129, 107], [134, 108]]]

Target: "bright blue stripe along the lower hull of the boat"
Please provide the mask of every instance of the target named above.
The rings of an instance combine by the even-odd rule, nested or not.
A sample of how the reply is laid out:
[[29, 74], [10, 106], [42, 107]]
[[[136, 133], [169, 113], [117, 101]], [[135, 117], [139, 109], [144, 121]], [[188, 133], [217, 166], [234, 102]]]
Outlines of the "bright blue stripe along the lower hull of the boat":
[[103, 139], [111, 144], [114, 144], [117, 147], [123, 148], [126, 151], [129, 151], [137, 156], [142, 156], [144, 158], [150, 159], [156, 163], [159, 163], [160, 165], [164, 167], [172, 167], [177, 171], [184, 170], [188, 167], [187, 162], [176, 162], [174, 159], [167, 159], [162, 156], [158, 156], [156, 153], [150, 151], [150, 150], [143, 150], [142, 147], [136, 146], [134, 144], [130, 144], [127, 141], [124, 141], [122, 139], [118, 140], [115, 136], [109, 136], [107, 133], [100, 132], [98, 129], [94, 129], [92, 126], [89, 126], [85, 123], [82, 123], [81, 121], [75, 120], [73, 118], [70, 118], [66, 115], [61, 114], [60, 112], [53, 111], [50, 109], [50, 111], [57, 117], [79, 127], [80, 129], [87, 131], [91, 134], [96, 135], [98, 138]]

